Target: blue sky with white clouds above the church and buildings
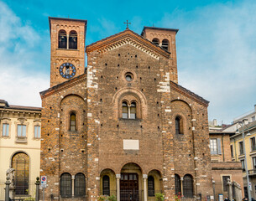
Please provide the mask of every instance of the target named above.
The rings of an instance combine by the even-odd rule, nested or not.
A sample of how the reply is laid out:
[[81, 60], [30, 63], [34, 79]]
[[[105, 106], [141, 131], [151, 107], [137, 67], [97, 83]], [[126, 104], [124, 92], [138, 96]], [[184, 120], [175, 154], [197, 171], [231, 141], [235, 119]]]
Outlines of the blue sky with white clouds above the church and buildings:
[[255, 0], [0, 0], [0, 99], [41, 106], [39, 92], [50, 87], [49, 16], [86, 19], [86, 45], [128, 20], [139, 34], [178, 28], [179, 85], [210, 101], [209, 121], [231, 123], [256, 104], [255, 11]]

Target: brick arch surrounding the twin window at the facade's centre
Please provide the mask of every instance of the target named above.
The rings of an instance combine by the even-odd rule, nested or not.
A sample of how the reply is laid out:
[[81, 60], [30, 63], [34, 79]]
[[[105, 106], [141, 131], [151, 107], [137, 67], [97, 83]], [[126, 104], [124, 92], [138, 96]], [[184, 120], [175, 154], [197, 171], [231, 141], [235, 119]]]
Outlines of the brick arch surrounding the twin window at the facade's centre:
[[139, 118], [145, 118], [147, 116], [147, 100], [145, 95], [140, 91], [132, 87], [126, 87], [121, 90], [118, 90], [115, 95], [113, 95], [112, 102], [113, 102], [113, 111], [114, 116], [116, 119], [120, 116], [120, 108], [122, 108], [122, 99], [125, 96], [134, 96], [138, 101], [138, 116]]

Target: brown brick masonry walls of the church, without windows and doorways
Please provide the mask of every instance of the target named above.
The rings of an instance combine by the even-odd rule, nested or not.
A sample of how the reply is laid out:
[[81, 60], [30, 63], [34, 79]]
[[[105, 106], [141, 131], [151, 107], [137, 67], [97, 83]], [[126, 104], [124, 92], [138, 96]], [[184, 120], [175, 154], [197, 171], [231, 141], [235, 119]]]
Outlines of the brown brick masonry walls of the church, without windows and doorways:
[[[86, 47], [88, 64], [83, 73], [84, 44], [78, 45], [79, 54], [55, 49], [57, 30], [73, 23], [77, 22], [52, 24], [52, 88], [41, 92], [41, 175], [48, 177], [46, 200], [51, 194], [68, 200], [60, 198], [61, 173], [86, 175], [86, 198], [73, 200], [97, 200], [101, 173], [111, 169], [120, 174], [129, 162], [137, 164], [141, 174], [157, 170], [166, 200], [175, 196], [175, 173], [180, 178], [191, 174], [196, 196], [212, 195], [208, 102], [175, 84], [175, 33], [161, 33], [169, 37], [170, 52], [149, 42], [155, 30], [149, 40], [126, 30], [91, 44]], [[84, 28], [75, 25], [81, 41]], [[56, 78], [57, 57], [79, 60], [81, 71], [74, 79]], [[133, 75], [132, 81], [125, 79], [127, 73]], [[138, 119], [122, 118], [123, 100], [136, 101]], [[77, 131], [69, 131], [71, 112], [76, 112]], [[175, 134], [176, 116], [182, 117], [183, 134]], [[138, 140], [139, 150], [124, 150], [124, 139]]]

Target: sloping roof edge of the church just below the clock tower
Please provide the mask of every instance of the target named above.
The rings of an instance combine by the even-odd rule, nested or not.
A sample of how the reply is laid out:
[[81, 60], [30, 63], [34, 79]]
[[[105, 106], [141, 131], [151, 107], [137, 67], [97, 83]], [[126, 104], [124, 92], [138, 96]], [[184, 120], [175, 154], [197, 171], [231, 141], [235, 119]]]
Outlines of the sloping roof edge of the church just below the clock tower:
[[71, 87], [73, 85], [77, 85], [81, 82], [83, 82], [84, 80], [86, 80], [86, 73], [79, 75], [71, 80], [66, 80], [65, 82], [60, 83], [59, 85], [55, 85], [53, 87], [50, 87], [48, 90], [43, 90], [41, 91], [39, 94], [41, 96], [41, 99], [43, 99], [45, 96], [48, 95], [52, 95], [55, 94], [56, 92], [60, 91], [60, 90], [64, 90], [68, 87]]

